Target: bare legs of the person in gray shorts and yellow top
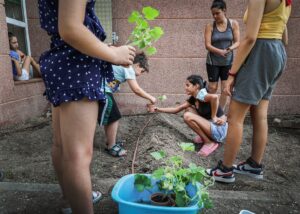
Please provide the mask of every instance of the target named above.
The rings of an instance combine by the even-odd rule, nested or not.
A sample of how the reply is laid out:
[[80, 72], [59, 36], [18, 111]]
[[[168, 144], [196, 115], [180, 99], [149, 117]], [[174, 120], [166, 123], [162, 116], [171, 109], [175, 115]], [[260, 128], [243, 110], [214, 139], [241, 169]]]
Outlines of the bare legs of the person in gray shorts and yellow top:
[[[260, 164], [267, 144], [267, 110], [269, 101], [262, 100], [257, 106], [251, 106], [253, 123], [253, 142], [251, 157]], [[243, 137], [244, 119], [250, 105], [232, 100], [228, 114], [228, 133], [225, 143], [223, 165], [232, 167], [240, 149]]]

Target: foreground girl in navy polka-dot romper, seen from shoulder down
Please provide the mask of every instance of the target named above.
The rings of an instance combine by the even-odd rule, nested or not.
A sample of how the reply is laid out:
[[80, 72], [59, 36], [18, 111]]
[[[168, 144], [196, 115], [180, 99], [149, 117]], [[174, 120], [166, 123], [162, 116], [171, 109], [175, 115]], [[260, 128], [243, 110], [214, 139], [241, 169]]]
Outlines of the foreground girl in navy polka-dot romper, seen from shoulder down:
[[90, 163], [99, 103], [103, 106], [106, 98], [103, 83], [113, 80], [111, 63], [132, 64], [135, 49], [102, 42], [106, 36], [94, 12], [95, 0], [38, 3], [41, 27], [51, 36], [40, 65], [53, 106], [53, 166], [72, 213], [92, 214], [92, 202], [101, 198], [92, 193]]

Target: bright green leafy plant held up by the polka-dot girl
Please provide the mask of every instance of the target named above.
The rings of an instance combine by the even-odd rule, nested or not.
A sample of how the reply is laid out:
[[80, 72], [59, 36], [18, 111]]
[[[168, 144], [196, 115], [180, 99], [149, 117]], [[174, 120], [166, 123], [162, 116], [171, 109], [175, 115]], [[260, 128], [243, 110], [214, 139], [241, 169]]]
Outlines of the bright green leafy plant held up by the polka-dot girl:
[[133, 11], [128, 17], [128, 22], [135, 23], [136, 26], [126, 44], [136, 46], [141, 50], [145, 49], [147, 55], [155, 54], [157, 50], [153, 47], [153, 43], [164, 34], [164, 31], [157, 26], [151, 28], [148, 21], [155, 20], [158, 16], [159, 11], [152, 7], [144, 7], [142, 14], [138, 11]]

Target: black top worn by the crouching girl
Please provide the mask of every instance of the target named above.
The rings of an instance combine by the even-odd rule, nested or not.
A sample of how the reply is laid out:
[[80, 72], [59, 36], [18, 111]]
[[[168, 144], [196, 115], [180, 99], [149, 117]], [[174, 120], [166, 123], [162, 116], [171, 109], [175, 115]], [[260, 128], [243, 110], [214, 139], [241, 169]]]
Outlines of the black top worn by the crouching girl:
[[[198, 101], [199, 106], [197, 107], [196, 101]], [[187, 102], [191, 104], [192, 106], [195, 106], [195, 109], [197, 113], [201, 116], [204, 117], [207, 120], [211, 120], [211, 106], [210, 103], [206, 102], [201, 102], [200, 100], [197, 100], [195, 97], [191, 96]], [[223, 110], [218, 106], [218, 111], [217, 111], [217, 117], [222, 117], [224, 115]]]

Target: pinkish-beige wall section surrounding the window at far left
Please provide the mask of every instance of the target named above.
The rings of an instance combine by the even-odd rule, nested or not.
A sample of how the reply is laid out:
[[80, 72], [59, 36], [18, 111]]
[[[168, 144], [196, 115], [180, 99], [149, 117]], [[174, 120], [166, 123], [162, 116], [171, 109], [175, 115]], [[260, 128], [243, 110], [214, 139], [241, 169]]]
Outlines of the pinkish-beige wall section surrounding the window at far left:
[[[32, 56], [38, 59], [49, 45], [39, 25], [37, 0], [27, 0], [27, 16]], [[14, 82], [9, 57], [4, 0], [0, 0], [0, 127], [40, 116], [47, 108], [41, 79]]]

